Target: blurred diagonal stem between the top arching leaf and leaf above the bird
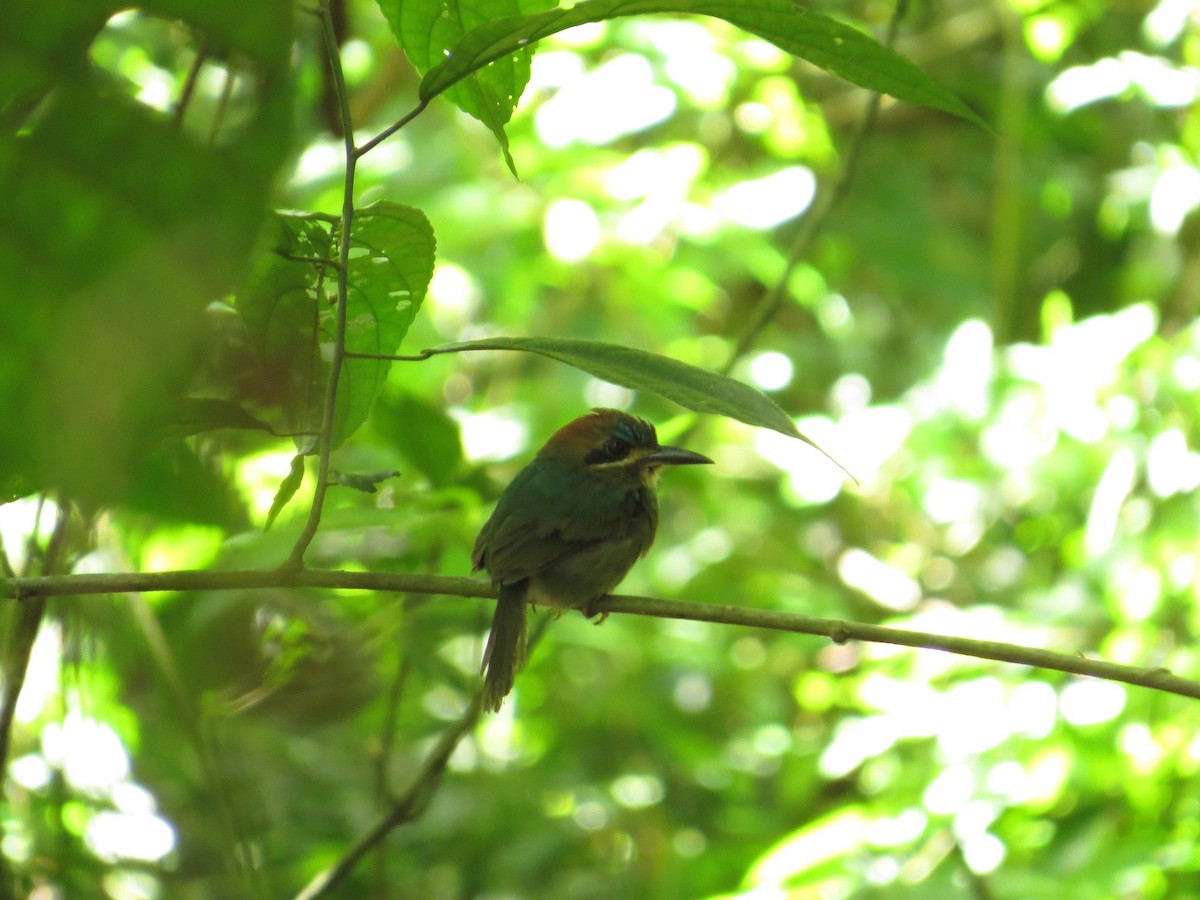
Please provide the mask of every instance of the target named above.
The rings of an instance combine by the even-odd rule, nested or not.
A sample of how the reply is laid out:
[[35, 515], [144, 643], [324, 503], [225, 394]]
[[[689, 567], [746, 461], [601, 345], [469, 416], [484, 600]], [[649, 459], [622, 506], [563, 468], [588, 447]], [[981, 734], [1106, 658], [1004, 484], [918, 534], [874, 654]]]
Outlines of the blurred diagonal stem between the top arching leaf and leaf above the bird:
[[[884, 37], [884, 46], [890, 47], [895, 42], [896, 31], [900, 28], [900, 22], [904, 19], [905, 13], [908, 10], [908, 0], [896, 0], [895, 8], [892, 12], [892, 19], [888, 22], [887, 36]], [[775, 281], [774, 284], [767, 290], [766, 294], [760, 298], [755, 308], [750, 312], [750, 318], [742, 329], [742, 334], [738, 336], [738, 341], [733, 347], [733, 352], [726, 360], [725, 365], [721, 367], [721, 374], [728, 374], [738, 361], [745, 356], [750, 348], [758, 340], [762, 330], [770, 323], [772, 319], [779, 313], [780, 307], [784, 305], [784, 300], [787, 295], [787, 283], [791, 281], [792, 272], [796, 266], [809, 256], [809, 251], [812, 248], [812, 242], [816, 240], [817, 234], [820, 234], [821, 228], [824, 227], [826, 221], [829, 218], [830, 214], [838, 208], [842, 198], [846, 196], [846, 191], [850, 188], [851, 182], [854, 178], [854, 172], [858, 168], [858, 160], [862, 156], [863, 146], [866, 143], [866, 136], [870, 133], [871, 126], [875, 124], [875, 115], [880, 109], [880, 94], [871, 94], [866, 102], [866, 110], [863, 113], [863, 118], [854, 130], [853, 137], [851, 137], [850, 146], [846, 148], [846, 154], [842, 157], [841, 168], [838, 170], [836, 176], [828, 190], [822, 193], [822, 199], [820, 204], [812, 209], [802, 221], [800, 230], [796, 235], [796, 240], [792, 241], [792, 247], [787, 253], [787, 262], [784, 264], [784, 271]]]

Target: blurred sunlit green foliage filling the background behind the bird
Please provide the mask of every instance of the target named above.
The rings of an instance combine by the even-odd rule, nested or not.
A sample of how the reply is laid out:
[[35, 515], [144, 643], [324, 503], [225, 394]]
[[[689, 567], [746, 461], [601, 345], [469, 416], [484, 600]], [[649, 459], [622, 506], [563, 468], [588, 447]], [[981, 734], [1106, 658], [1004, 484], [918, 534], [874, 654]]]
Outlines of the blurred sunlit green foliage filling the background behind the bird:
[[[289, 472], [320, 406], [346, 174], [318, 24], [276, 2], [59, 6], [0, 11], [5, 556], [278, 565], [311, 500]], [[815, 10], [876, 35], [893, 12]], [[377, 134], [420, 76], [378, 7], [335, 13], [355, 128]], [[308, 563], [463, 575], [532, 451], [589, 406], [631, 407], [718, 466], [664, 479], [623, 590], [1200, 677], [1195, 10], [936, 0], [898, 50], [992, 130], [884, 100], [790, 272], [866, 96], [718, 19], [556, 35], [523, 94], [520, 65], [493, 72], [520, 102], [492, 97], [487, 127], [436, 100], [355, 182], [380, 211], [352, 235], [356, 346], [380, 353], [540, 335], [719, 370], [786, 276], [732, 372], [859, 487], [774, 432], [533, 354], [372, 364], [355, 371], [380, 392], [346, 401], [332, 467], [377, 491], [331, 490]], [[392, 226], [421, 235], [412, 256], [377, 234]], [[463, 712], [490, 612], [281, 589], [52, 601], [7, 761], [14, 895], [294, 895]], [[1198, 733], [1193, 701], [1150, 690], [566, 616], [425, 815], [334, 893], [1200, 898]]]

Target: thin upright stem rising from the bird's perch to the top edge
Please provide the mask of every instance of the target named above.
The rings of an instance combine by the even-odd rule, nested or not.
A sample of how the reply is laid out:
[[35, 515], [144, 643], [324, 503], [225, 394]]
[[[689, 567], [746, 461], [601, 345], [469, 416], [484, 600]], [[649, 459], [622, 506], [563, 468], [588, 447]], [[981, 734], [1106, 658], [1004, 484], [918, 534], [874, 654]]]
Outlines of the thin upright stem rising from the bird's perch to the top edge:
[[334, 17], [329, 0], [320, 4], [320, 30], [325, 37], [325, 49], [329, 54], [329, 67], [334, 76], [334, 88], [337, 91], [342, 116], [342, 142], [346, 154], [346, 180], [342, 186], [342, 218], [338, 226], [337, 246], [337, 313], [334, 332], [334, 348], [329, 360], [329, 383], [325, 388], [325, 407], [320, 419], [320, 434], [317, 439], [317, 484], [313, 488], [312, 506], [308, 517], [292, 554], [284, 568], [299, 569], [304, 565], [304, 554], [317, 536], [320, 526], [320, 514], [325, 505], [325, 493], [329, 491], [329, 456], [334, 449], [334, 414], [337, 409], [337, 385], [342, 377], [342, 362], [346, 359], [346, 310], [349, 305], [349, 264], [350, 264], [350, 228], [354, 224], [354, 170], [358, 163], [358, 150], [354, 146], [354, 122], [350, 118], [350, 100], [346, 90], [346, 77], [342, 72], [342, 59], [338, 53], [337, 36], [334, 31]]

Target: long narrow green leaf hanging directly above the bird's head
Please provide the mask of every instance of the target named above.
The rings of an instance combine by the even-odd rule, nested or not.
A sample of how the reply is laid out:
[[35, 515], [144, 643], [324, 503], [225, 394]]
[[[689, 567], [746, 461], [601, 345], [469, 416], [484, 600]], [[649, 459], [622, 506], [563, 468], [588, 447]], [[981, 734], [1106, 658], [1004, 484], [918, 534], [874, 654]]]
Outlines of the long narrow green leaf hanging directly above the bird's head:
[[715, 413], [797, 438], [820, 450], [845, 472], [841, 463], [802, 434], [792, 418], [762, 391], [670, 356], [659, 356], [614, 343], [576, 341], [569, 337], [490, 337], [482, 341], [442, 344], [425, 353], [432, 355], [464, 350], [523, 350], [548, 356], [623, 388], [666, 397], [697, 413]]

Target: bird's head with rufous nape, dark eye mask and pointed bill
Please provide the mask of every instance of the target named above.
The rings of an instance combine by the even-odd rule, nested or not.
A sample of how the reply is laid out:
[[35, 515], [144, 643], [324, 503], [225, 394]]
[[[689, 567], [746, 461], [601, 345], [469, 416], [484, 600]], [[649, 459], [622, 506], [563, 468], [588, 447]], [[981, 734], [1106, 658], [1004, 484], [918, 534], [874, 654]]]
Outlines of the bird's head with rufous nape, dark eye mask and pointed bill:
[[618, 409], [593, 409], [568, 422], [538, 455], [582, 466], [590, 474], [647, 486], [653, 486], [664, 466], [713, 462], [691, 450], [660, 446], [653, 425]]

